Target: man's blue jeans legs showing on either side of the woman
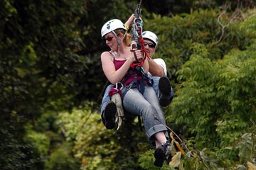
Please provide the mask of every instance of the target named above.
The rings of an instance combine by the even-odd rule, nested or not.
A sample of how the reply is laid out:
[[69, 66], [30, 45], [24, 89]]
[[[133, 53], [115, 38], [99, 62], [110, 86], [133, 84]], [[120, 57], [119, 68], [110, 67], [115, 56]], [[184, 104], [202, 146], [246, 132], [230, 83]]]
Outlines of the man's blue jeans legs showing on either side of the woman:
[[[159, 97], [159, 79], [160, 77], [151, 77], [151, 79], [154, 80], [154, 84], [153, 84], [153, 89], [154, 91], [156, 91], [156, 95]], [[106, 106], [107, 106], [107, 103], [110, 102], [110, 96], [108, 96], [108, 92], [110, 91], [110, 89], [113, 87], [113, 84], [110, 84], [107, 86], [107, 88], [105, 89], [105, 93], [104, 93], [104, 96], [102, 98], [102, 104], [101, 104], [101, 108], [100, 108], [100, 113], [102, 113]]]

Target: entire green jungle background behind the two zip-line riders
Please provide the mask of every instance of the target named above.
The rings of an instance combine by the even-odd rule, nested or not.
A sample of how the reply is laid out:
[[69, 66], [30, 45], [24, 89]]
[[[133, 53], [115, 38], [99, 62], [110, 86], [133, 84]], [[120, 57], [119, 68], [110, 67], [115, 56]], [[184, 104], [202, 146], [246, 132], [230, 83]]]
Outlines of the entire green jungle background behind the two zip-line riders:
[[[0, 1], [0, 169], [160, 169], [137, 118], [100, 120], [100, 29], [137, 4]], [[166, 125], [183, 140], [161, 169], [256, 169], [255, 1], [143, 0], [142, 19], [174, 86]]]

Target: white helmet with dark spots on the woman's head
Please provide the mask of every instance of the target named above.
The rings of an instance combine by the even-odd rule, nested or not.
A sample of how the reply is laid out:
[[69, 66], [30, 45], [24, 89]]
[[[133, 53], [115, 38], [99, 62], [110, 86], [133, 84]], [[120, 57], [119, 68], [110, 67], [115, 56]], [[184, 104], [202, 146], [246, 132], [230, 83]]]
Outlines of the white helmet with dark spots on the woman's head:
[[124, 26], [124, 23], [122, 23], [122, 21], [120, 21], [119, 19], [112, 19], [110, 21], [107, 21], [107, 23], [105, 23], [104, 26], [102, 26], [102, 30], [101, 30], [102, 38], [107, 33], [110, 33], [111, 31], [114, 31], [118, 28], [127, 30], [127, 28], [125, 28]]

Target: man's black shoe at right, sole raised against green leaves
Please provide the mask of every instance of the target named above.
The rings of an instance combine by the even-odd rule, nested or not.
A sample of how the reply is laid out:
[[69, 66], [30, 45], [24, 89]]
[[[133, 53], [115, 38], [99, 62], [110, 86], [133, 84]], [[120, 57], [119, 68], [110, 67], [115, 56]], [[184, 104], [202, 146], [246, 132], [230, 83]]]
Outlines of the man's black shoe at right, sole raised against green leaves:
[[159, 103], [161, 106], [168, 106], [171, 103], [171, 82], [168, 77], [161, 77], [159, 79]]

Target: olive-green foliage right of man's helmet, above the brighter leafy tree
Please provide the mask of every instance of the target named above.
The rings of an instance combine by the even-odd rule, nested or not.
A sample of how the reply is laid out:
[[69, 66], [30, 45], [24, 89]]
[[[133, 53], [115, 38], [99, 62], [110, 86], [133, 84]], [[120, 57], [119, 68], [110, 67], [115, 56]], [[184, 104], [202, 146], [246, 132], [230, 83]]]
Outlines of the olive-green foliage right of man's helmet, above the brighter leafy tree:
[[[224, 29], [218, 23], [222, 11], [217, 9], [198, 10], [193, 13], [183, 13], [171, 18], [153, 14], [144, 19], [144, 30], [151, 30], [159, 38], [159, 45], [154, 57], [161, 57], [166, 61], [169, 77], [178, 82], [176, 72], [190, 59], [193, 54], [193, 44], [200, 43], [206, 46], [210, 60], [222, 59], [232, 48], [244, 50], [252, 40], [246, 38], [239, 23], [242, 13], [232, 22], [232, 16], [226, 14], [220, 17], [220, 22], [230, 25]], [[231, 20], [231, 21], [230, 21]], [[221, 40], [220, 40], [221, 38]], [[218, 42], [220, 40], [220, 42]]]

